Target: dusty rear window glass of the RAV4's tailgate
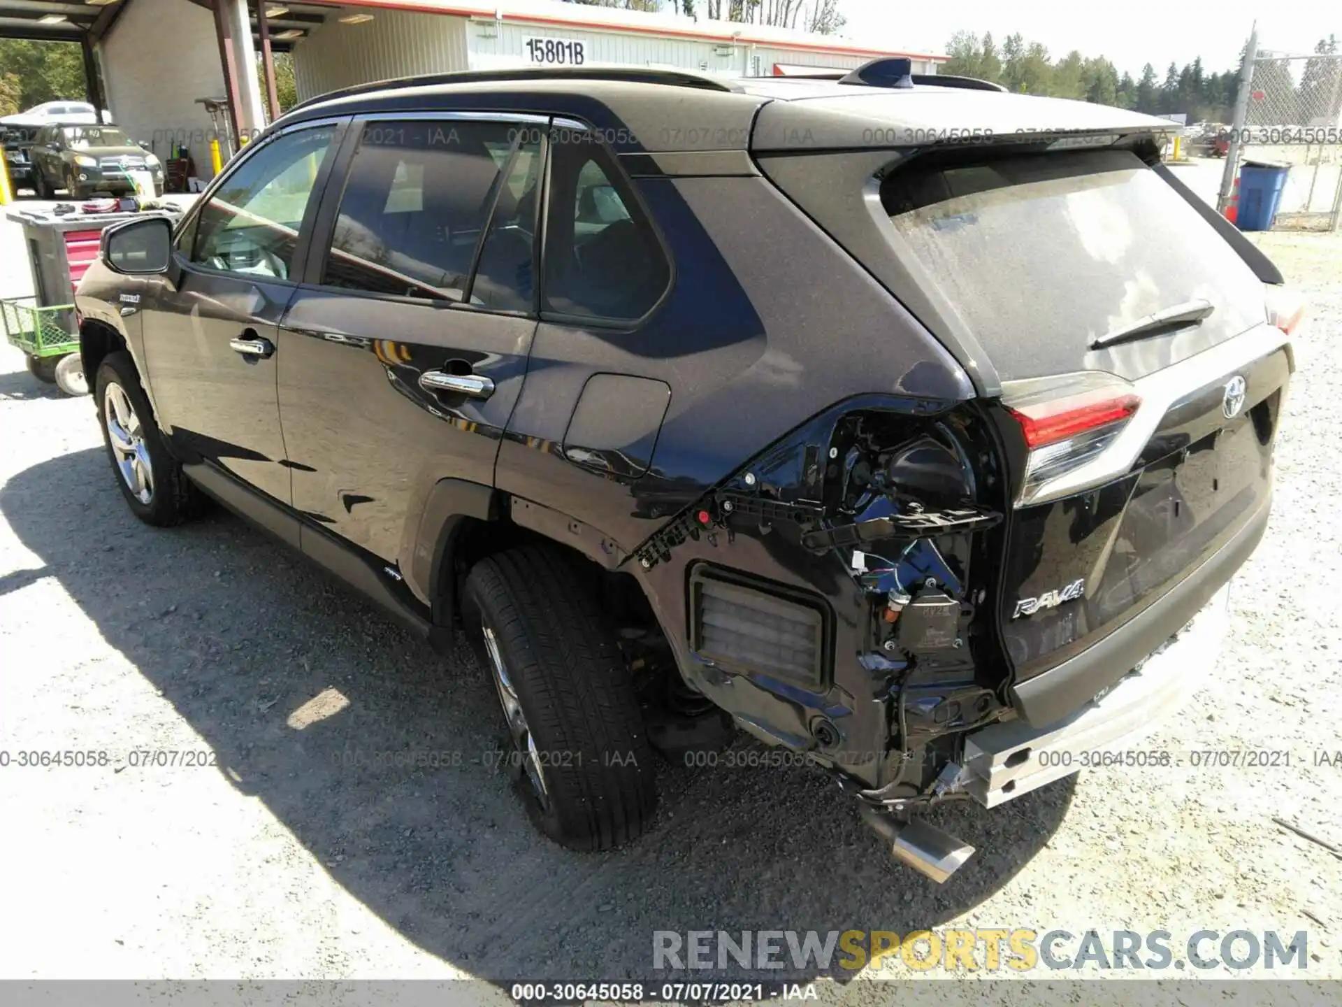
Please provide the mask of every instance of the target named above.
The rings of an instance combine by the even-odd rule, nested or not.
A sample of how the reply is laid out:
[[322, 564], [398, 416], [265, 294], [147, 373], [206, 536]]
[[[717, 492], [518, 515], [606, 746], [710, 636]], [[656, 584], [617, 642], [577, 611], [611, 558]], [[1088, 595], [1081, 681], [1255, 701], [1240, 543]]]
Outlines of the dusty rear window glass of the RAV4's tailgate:
[[1194, 299], [1227, 337], [1263, 321], [1248, 266], [1127, 152], [915, 160], [880, 195], [1002, 380], [1082, 369], [1094, 340]]

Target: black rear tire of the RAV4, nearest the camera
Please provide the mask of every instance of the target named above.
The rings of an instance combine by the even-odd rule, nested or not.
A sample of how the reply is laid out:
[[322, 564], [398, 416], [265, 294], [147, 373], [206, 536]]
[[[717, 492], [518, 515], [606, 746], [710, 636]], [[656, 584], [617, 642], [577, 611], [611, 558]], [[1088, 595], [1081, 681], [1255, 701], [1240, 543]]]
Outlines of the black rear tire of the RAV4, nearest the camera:
[[514, 773], [531, 822], [572, 850], [636, 839], [656, 807], [652, 749], [615, 634], [573, 563], [546, 545], [509, 549], [471, 568], [463, 602], [491, 679], [493, 631], [542, 756], [544, 798]]

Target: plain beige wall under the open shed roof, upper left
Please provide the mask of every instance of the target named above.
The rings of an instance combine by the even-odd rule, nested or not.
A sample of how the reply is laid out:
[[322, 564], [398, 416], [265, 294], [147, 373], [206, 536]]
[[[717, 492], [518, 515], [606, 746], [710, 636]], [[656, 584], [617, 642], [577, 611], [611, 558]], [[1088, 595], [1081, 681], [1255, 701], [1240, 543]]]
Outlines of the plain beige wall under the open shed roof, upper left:
[[176, 138], [208, 179], [213, 124], [196, 99], [224, 94], [213, 15], [185, 0], [132, 0], [99, 50], [117, 125], [160, 158]]

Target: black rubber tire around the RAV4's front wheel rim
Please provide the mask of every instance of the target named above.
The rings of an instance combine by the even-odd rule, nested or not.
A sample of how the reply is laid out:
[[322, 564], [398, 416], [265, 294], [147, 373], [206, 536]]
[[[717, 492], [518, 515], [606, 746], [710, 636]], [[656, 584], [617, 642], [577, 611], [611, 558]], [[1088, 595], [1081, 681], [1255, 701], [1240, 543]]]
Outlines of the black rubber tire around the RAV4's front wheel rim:
[[[140, 420], [137, 430], [145, 452], [149, 455], [152, 473], [152, 487], [148, 499], [142, 499], [132, 490], [126, 477], [122, 475], [121, 455], [113, 447], [111, 431], [107, 427], [107, 389], [118, 387], [134, 410]], [[196, 517], [205, 509], [205, 498], [201, 491], [187, 478], [181, 465], [164, 440], [154, 420], [153, 410], [145, 389], [140, 387], [140, 375], [130, 354], [125, 350], [109, 353], [98, 367], [98, 379], [94, 383], [94, 404], [98, 408], [98, 426], [102, 427], [102, 443], [107, 450], [107, 459], [111, 463], [111, 473], [121, 489], [121, 495], [126, 498], [126, 505], [132, 513], [148, 525], [168, 528]]]

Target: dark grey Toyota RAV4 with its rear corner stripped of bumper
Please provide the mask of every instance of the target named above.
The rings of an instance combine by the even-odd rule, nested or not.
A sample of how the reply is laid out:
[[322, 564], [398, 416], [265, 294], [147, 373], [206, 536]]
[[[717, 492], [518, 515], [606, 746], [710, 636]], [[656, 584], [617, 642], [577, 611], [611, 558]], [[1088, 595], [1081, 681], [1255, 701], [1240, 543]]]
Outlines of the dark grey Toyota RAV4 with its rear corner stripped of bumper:
[[106, 232], [113, 477], [464, 630], [560, 843], [739, 728], [943, 881], [921, 812], [1176, 709], [1267, 525], [1300, 314], [1169, 129], [907, 60], [327, 94]]

